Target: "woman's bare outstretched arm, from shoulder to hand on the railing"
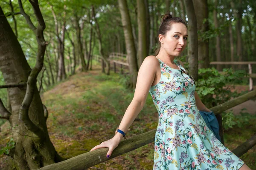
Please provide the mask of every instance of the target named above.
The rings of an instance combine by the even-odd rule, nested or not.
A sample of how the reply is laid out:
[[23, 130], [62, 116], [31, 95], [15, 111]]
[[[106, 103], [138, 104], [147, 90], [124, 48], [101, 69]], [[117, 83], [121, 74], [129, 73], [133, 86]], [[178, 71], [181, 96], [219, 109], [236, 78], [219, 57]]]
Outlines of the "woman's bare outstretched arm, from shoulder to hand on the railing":
[[[119, 129], [123, 132], [127, 132], [131, 124], [134, 122], [134, 119], [143, 109], [145, 101], [148, 96], [150, 86], [152, 85], [156, 70], [159, 66], [159, 61], [154, 56], [148, 56], [144, 59], [140, 70], [138, 72], [136, 88], [134, 92], [134, 98], [131, 101], [131, 104], [125, 111], [125, 114], [122, 118], [122, 121], [119, 125]], [[104, 141], [101, 144], [93, 147], [90, 151], [108, 147], [107, 157], [111, 155], [113, 150], [118, 146], [119, 142], [122, 140], [123, 135], [121, 133], [116, 133], [113, 138], [108, 141]]]

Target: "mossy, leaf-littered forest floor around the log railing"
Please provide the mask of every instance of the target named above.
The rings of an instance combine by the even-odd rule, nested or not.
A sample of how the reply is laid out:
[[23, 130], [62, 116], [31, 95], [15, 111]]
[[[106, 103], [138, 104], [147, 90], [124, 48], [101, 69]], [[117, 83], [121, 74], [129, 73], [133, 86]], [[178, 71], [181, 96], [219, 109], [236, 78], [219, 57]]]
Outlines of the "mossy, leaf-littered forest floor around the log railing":
[[[123, 78], [118, 73], [111, 76], [101, 73], [99, 65], [89, 72], [79, 72], [65, 81], [50, 87], [42, 95], [48, 108], [47, 127], [50, 139], [57, 152], [64, 158], [71, 158], [90, 151], [102, 141], [113, 137], [122, 116], [130, 104], [134, 92], [122, 86]], [[238, 86], [236, 90], [246, 89]], [[252, 106], [252, 107], [251, 107]], [[256, 112], [255, 105], [247, 112]], [[235, 109], [234, 111], [237, 111]], [[254, 115], [254, 114], [253, 114]], [[239, 116], [239, 112], [238, 112]], [[157, 128], [158, 114], [150, 94], [145, 106], [128, 130], [125, 138]], [[230, 150], [245, 142], [256, 132], [256, 117], [251, 117], [242, 127], [235, 125], [224, 131], [225, 146]], [[0, 133], [0, 147], [9, 136], [7, 125]], [[89, 170], [151, 170], [153, 168], [154, 142], [137, 150], [112, 158]], [[252, 170], [256, 170], [256, 146], [240, 157]], [[0, 169], [6, 156], [0, 156]]]

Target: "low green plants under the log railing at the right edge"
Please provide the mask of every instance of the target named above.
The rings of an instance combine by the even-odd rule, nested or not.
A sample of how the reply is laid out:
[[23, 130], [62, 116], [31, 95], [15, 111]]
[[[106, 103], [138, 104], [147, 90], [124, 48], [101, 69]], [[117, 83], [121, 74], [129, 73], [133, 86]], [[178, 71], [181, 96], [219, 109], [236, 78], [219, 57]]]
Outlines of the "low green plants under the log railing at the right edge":
[[[243, 109], [244, 110], [244, 109]], [[224, 130], [238, 126], [239, 128], [250, 123], [250, 120], [256, 118], [248, 112], [240, 112], [241, 115], [234, 115], [233, 111], [222, 113], [222, 124]]]

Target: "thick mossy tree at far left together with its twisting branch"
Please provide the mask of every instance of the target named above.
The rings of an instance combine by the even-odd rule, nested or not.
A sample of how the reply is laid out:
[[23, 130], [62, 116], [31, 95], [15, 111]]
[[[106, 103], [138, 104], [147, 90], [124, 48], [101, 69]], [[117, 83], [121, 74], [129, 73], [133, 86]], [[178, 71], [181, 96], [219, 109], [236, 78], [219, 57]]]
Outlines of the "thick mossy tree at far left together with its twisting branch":
[[[34, 69], [29, 67], [11, 26], [0, 7], [0, 70], [6, 85], [27, 82], [24, 86], [8, 88], [12, 112], [8, 112], [0, 102], [1, 118], [9, 120], [15, 147], [10, 150], [9, 169], [38, 169], [61, 160], [52, 145], [47, 132], [44, 106], [42, 104], [36, 77], [43, 67], [46, 42], [43, 31], [44, 20], [37, 0], [29, 0], [38, 19], [36, 28], [24, 12], [19, 0], [20, 13], [35, 32], [38, 42], [37, 62]], [[1, 101], [1, 100], [0, 100]], [[3, 115], [5, 113], [5, 115]]]

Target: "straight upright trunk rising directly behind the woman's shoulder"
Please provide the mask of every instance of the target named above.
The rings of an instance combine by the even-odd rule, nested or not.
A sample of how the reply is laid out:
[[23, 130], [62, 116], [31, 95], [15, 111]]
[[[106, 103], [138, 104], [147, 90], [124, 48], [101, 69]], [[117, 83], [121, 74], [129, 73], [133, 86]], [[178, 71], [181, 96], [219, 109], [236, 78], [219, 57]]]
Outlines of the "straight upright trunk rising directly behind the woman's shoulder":
[[145, 8], [145, 1], [144, 0], [137, 0], [137, 9], [138, 9], [138, 67], [140, 68], [141, 64], [143, 63], [145, 57], [147, 57], [147, 29], [146, 25], [146, 8]]

